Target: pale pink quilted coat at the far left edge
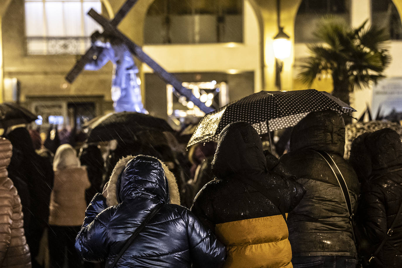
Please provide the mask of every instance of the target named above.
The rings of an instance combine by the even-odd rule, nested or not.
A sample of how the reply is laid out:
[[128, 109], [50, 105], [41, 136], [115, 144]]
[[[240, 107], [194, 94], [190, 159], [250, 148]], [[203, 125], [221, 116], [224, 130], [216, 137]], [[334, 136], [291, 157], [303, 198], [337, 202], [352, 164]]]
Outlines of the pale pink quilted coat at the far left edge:
[[24, 235], [21, 200], [7, 178], [12, 145], [0, 139], [0, 267], [31, 267], [31, 255]]

